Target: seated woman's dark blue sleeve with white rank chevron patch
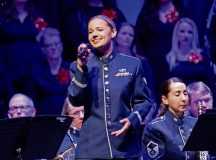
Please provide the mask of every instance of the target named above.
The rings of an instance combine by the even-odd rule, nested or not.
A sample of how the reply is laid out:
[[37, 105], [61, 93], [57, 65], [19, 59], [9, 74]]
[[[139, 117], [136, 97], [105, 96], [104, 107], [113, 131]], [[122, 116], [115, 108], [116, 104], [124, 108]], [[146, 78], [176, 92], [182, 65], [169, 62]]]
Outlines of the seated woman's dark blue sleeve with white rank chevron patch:
[[142, 145], [144, 149], [144, 157], [148, 160], [164, 160], [165, 145], [162, 134], [149, 123], [143, 132]]

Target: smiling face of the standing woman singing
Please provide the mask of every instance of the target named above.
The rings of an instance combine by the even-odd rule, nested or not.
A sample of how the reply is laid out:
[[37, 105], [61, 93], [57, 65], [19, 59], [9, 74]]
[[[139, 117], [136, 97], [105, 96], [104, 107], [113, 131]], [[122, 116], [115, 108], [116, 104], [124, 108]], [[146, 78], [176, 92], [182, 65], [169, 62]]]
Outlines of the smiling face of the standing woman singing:
[[112, 38], [116, 36], [116, 30], [100, 18], [95, 18], [88, 25], [88, 39], [91, 45], [103, 52], [110, 47]]

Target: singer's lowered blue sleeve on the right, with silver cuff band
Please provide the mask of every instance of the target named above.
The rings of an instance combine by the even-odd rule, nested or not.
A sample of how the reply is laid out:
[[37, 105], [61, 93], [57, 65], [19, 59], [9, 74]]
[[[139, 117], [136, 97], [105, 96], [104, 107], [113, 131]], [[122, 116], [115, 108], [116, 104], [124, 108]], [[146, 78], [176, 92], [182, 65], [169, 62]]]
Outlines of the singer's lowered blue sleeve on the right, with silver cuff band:
[[152, 107], [152, 102], [146, 78], [144, 77], [141, 61], [139, 61], [135, 74], [133, 97], [131, 101], [133, 109], [128, 119], [132, 123], [132, 126], [137, 128], [149, 113], [150, 108]]

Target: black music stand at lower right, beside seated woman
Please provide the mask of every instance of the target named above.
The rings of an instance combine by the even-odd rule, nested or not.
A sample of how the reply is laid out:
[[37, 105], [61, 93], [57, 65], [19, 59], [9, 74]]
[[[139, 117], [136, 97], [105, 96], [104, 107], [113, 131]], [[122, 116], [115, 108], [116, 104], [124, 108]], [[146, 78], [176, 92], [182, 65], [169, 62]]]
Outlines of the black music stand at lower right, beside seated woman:
[[216, 113], [208, 112], [199, 116], [184, 151], [209, 151], [216, 153]]

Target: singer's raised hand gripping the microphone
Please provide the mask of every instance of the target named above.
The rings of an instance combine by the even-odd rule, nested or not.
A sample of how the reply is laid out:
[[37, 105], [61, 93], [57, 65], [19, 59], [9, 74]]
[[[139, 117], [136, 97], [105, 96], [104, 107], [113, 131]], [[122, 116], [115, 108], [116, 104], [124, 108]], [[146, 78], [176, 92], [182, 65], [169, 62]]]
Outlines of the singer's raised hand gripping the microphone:
[[77, 68], [83, 72], [83, 66], [87, 63], [87, 60], [91, 54], [91, 49], [85, 43], [82, 43], [78, 47], [78, 54], [83, 52], [83, 54], [77, 56]]

